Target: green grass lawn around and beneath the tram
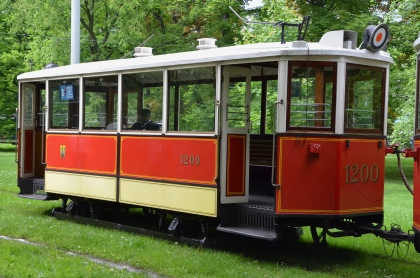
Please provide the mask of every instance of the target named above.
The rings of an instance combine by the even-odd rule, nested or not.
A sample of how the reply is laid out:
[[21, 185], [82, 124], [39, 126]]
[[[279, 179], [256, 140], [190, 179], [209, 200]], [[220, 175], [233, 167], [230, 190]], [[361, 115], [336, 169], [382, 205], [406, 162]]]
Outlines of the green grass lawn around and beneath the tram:
[[[244, 239], [235, 249], [197, 249], [149, 237], [91, 227], [50, 217], [59, 202], [16, 197], [16, 163], [0, 151], [1, 277], [417, 277], [420, 254], [411, 244], [406, 258], [388, 257], [373, 235], [330, 238], [328, 246], [312, 243], [309, 229], [290, 246]], [[1, 149], [0, 149], [1, 150]], [[402, 158], [412, 183], [412, 159]], [[412, 196], [405, 189], [395, 156], [386, 158], [385, 225], [412, 225]], [[401, 244], [405, 255], [407, 244]], [[391, 246], [386, 246], [388, 253]], [[404, 251], [404, 252], [402, 252]], [[135, 273], [93, 263], [81, 254], [143, 270]]]

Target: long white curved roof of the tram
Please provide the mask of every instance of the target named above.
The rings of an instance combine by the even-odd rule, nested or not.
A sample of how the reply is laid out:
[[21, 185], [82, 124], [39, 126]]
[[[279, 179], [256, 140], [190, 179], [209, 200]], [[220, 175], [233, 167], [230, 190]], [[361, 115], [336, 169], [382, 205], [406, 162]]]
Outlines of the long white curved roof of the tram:
[[215, 62], [228, 64], [227, 62], [229, 61], [232, 61], [233, 63], [249, 63], [254, 59], [269, 60], [270, 58], [273, 58], [273, 60], [275, 60], [280, 56], [341, 56], [393, 63], [393, 59], [390, 57], [389, 53], [384, 51], [372, 52], [367, 49], [348, 49], [343, 47], [327, 46], [320, 43], [306, 43], [303, 41], [288, 42], [285, 44], [273, 42], [220, 47], [148, 57], [73, 64], [23, 73], [20, 74], [17, 79], [34, 80], [60, 76], [93, 75], [96, 73], [107, 74], [120, 71], [147, 70], [173, 66], [194, 66], [202, 63]]

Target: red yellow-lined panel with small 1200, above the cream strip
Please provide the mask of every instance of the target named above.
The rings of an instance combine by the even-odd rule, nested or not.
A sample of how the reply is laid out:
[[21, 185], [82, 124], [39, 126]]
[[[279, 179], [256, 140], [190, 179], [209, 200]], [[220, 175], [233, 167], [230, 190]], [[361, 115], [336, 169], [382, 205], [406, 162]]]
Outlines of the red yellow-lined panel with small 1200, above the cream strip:
[[216, 139], [121, 137], [121, 177], [216, 186]]

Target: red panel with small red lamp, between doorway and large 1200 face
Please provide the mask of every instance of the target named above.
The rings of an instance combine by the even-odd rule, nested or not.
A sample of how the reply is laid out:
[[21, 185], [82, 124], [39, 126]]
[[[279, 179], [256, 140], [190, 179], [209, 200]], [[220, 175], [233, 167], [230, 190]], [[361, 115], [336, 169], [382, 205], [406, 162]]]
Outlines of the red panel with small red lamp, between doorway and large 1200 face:
[[320, 140], [278, 139], [276, 213], [283, 215], [334, 214], [335, 142], [322, 140], [320, 154], [311, 155], [309, 145]]

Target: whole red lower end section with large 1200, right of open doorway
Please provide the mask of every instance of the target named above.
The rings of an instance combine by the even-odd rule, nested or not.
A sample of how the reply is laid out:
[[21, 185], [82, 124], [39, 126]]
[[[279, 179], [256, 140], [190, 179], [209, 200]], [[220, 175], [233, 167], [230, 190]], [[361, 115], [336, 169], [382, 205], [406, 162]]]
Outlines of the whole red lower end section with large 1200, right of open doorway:
[[278, 146], [277, 214], [382, 217], [385, 154], [378, 140], [289, 136]]

